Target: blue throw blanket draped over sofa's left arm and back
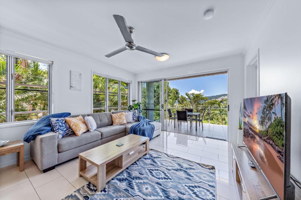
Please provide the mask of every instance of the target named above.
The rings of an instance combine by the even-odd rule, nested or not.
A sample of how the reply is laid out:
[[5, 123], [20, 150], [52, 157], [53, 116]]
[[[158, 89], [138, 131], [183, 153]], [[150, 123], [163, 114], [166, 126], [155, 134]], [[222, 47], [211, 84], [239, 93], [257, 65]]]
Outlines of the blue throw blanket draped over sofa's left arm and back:
[[70, 116], [70, 112], [61, 112], [51, 115], [46, 115], [37, 121], [33, 126], [25, 133], [23, 141], [29, 143], [36, 139], [36, 136], [43, 135], [51, 131], [51, 124], [49, 118], [64, 118]]

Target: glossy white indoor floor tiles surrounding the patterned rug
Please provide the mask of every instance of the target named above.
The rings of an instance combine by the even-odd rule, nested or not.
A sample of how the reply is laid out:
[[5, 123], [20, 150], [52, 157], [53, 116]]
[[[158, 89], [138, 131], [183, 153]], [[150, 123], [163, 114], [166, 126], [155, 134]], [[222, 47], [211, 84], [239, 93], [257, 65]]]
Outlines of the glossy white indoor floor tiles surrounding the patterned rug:
[[[162, 132], [150, 142], [150, 148], [195, 162], [216, 167], [217, 200], [237, 200], [238, 194], [231, 170], [231, 145], [228, 142]], [[15, 165], [0, 169], [0, 199], [62, 199], [88, 181], [78, 177], [78, 158], [42, 173], [32, 160], [24, 171]]]

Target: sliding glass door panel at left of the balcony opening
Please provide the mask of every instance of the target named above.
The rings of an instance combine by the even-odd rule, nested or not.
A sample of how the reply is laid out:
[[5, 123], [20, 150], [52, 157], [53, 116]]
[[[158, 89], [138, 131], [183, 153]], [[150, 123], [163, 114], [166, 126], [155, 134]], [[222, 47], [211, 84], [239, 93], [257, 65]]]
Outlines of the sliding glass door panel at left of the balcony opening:
[[[141, 85], [141, 115], [151, 121], [157, 121], [162, 124], [162, 130], [165, 130], [165, 107], [166, 107], [166, 80], [161, 79], [151, 82], [140, 82]], [[165, 123], [164, 123], [165, 122]]]

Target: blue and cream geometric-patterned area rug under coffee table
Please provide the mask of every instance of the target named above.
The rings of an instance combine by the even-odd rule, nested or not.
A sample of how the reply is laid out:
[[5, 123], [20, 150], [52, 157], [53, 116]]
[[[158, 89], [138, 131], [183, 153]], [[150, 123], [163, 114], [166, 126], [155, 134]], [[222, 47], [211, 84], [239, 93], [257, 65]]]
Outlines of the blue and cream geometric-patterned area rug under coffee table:
[[111, 179], [100, 192], [89, 182], [73, 199], [216, 199], [215, 167], [151, 150]]

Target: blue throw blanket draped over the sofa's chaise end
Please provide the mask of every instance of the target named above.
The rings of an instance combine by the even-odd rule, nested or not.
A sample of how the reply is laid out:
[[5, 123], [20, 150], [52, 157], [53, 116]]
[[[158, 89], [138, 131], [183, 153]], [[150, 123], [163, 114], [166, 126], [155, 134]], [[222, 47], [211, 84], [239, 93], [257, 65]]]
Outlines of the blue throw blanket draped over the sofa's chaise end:
[[153, 138], [155, 125], [151, 123], [151, 120], [146, 119], [144, 116], [138, 115], [139, 122], [131, 126], [129, 134], [135, 134], [138, 136]]

